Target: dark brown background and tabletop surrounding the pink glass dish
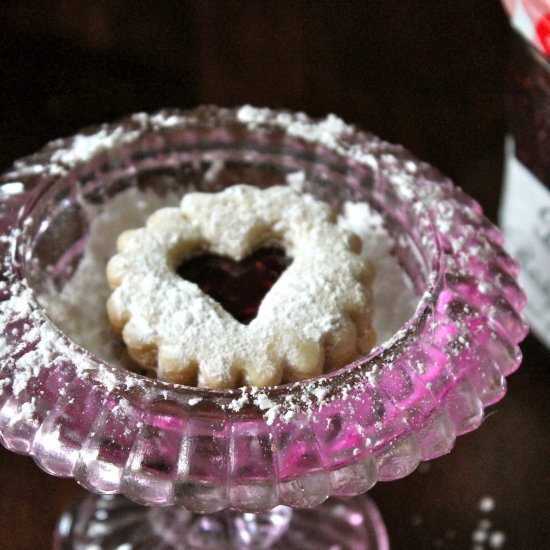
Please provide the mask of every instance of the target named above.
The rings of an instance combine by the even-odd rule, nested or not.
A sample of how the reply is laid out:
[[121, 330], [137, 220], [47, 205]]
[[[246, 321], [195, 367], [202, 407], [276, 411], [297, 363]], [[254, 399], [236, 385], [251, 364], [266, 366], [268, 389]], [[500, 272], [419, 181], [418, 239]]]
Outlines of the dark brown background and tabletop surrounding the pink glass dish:
[[[0, 169], [130, 112], [251, 103], [400, 142], [496, 220], [510, 39], [498, 0], [3, 0]], [[373, 489], [393, 548], [473, 548], [483, 518], [506, 549], [550, 547], [550, 353], [533, 337], [523, 351], [479, 430]], [[79, 491], [0, 448], [0, 547], [49, 548]]]

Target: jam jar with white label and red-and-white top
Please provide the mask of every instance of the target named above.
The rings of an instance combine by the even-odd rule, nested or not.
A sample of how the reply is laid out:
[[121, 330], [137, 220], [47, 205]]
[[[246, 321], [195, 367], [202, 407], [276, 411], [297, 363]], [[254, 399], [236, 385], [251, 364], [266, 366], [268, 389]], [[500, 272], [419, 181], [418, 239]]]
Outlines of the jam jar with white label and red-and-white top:
[[500, 224], [527, 319], [550, 348], [550, 0], [505, 0], [514, 29]]

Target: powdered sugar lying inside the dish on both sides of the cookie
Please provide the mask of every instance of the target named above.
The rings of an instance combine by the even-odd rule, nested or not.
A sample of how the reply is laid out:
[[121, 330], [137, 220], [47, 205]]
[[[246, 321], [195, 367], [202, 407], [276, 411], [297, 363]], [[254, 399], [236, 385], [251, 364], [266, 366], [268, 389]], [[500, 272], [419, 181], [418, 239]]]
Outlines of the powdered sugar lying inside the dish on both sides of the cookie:
[[[63, 332], [110, 363], [125, 364], [123, 348], [109, 329], [105, 309], [110, 294], [105, 267], [114, 254], [116, 238], [125, 229], [143, 225], [148, 215], [159, 207], [176, 202], [173, 197], [166, 199], [131, 188], [118, 194], [101, 210], [90, 210], [90, 238], [74, 275], [60, 292], [51, 289], [39, 298]], [[347, 203], [338, 222], [361, 237], [362, 254], [375, 266], [373, 325], [380, 345], [414, 313], [418, 296], [392, 255], [393, 238], [380, 214], [366, 203]], [[24, 316], [28, 298], [13, 300], [12, 309]]]

